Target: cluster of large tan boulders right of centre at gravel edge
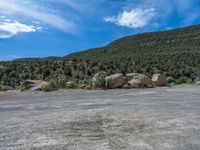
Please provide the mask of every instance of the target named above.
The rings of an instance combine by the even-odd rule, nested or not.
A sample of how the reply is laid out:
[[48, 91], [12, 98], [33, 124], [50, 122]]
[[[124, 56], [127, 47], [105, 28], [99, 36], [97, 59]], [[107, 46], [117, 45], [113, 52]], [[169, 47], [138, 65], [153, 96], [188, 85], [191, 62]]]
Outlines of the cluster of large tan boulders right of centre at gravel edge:
[[122, 73], [105, 76], [105, 74], [96, 74], [93, 78], [93, 84], [101, 75], [101, 79], [105, 77], [105, 87], [108, 89], [115, 88], [145, 88], [153, 86], [166, 86], [167, 78], [162, 74], [154, 74], [152, 79], [139, 73], [129, 73], [124, 76]]

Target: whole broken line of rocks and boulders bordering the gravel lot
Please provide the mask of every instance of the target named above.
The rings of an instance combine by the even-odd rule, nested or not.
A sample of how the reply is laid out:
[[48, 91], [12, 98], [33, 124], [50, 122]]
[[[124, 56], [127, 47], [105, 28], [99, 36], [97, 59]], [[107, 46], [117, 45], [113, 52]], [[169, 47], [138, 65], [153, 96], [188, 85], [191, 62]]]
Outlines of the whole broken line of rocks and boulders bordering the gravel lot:
[[[76, 83], [65, 79], [58, 80], [55, 84], [57, 89], [116, 89], [116, 88], [152, 88], [156, 86], [166, 86], [172, 77], [166, 77], [163, 74], [154, 74], [152, 78], [140, 73], [128, 73], [125, 76], [122, 73], [107, 76], [106, 72], [97, 73], [88, 83]], [[21, 85], [21, 90], [41, 91], [49, 82], [41, 80], [26, 80]], [[200, 81], [196, 82], [200, 85]]]

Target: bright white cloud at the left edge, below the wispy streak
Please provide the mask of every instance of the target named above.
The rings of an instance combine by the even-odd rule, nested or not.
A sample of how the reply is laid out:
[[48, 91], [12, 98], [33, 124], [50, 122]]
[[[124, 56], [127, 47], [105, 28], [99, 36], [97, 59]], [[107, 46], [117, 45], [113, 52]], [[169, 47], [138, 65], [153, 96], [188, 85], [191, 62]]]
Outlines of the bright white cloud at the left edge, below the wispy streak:
[[40, 27], [26, 25], [20, 22], [2, 22], [0, 23], [0, 38], [10, 38], [18, 33], [29, 33], [40, 31]]

